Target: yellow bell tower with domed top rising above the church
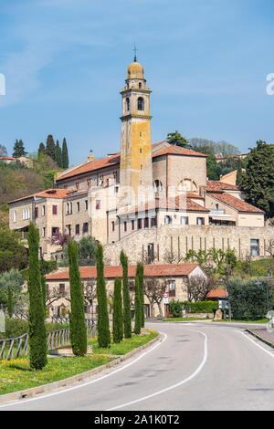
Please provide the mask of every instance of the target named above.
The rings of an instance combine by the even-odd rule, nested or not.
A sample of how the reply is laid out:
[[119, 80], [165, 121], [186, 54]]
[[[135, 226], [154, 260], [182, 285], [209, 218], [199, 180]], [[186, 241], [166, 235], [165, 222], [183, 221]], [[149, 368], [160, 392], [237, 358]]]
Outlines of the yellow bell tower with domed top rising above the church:
[[140, 204], [153, 193], [150, 95], [142, 65], [128, 67], [121, 90], [121, 203]]

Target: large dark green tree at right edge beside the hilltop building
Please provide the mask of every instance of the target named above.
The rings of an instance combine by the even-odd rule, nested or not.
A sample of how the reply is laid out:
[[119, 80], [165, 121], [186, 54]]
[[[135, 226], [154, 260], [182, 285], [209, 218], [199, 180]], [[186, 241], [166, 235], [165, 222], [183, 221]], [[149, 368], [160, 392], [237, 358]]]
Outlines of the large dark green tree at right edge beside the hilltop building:
[[274, 144], [257, 141], [256, 148], [248, 154], [243, 190], [247, 201], [274, 215]]

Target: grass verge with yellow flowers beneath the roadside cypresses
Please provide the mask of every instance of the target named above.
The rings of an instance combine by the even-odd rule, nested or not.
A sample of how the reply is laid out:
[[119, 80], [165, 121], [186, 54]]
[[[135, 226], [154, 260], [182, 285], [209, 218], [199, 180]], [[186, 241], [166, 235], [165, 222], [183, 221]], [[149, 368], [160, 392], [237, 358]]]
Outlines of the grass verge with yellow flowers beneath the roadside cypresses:
[[0, 394], [21, 391], [37, 387], [48, 382], [58, 382], [81, 372], [90, 371], [132, 351], [158, 336], [154, 330], [146, 330], [146, 335], [132, 335], [131, 340], [122, 340], [120, 344], [111, 343], [110, 349], [100, 349], [96, 339], [90, 341], [92, 356], [83, 358], [49, 358], [46, 368], [32, 371], [27, 358], [13, 361], [0, 361]]

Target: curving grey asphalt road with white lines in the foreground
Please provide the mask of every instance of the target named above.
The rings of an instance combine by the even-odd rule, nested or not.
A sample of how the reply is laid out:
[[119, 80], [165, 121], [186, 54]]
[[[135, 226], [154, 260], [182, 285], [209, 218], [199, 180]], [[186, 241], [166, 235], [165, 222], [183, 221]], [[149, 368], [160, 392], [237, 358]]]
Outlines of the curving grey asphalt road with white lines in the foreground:
[[150, 325], [161, 344], [82, 384], [5, 410], [274, 410], [274, 350], [242, 327]]

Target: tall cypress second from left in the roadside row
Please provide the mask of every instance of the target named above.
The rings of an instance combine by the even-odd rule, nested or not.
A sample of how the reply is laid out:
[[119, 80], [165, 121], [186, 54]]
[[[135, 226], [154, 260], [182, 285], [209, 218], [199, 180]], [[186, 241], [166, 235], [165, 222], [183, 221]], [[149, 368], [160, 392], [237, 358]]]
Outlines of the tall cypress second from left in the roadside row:
[[78, 246], [68, 240], [69, 285], [70, 285], [70, 341], [73, 354], [84, 356], [87, 353], [87, 327], [85, 321], [84, 297], [79, 274]]

